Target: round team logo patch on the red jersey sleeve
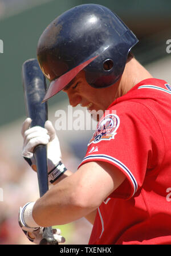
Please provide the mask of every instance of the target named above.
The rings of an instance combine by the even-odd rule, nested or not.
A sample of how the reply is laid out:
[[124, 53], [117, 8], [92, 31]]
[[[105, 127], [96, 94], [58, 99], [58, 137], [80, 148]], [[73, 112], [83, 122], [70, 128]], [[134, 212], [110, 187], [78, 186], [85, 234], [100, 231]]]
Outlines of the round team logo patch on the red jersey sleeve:
[[119, 127], [119, 124], [119, 116], [115, 114], [109, 114], [105, 116], [101, 121], [99, 121], [96, 131], [88, 145], [91, 143], [99, 143], [101, 140], [114, 139], [115, 135], [117, 134], [116, 130]]

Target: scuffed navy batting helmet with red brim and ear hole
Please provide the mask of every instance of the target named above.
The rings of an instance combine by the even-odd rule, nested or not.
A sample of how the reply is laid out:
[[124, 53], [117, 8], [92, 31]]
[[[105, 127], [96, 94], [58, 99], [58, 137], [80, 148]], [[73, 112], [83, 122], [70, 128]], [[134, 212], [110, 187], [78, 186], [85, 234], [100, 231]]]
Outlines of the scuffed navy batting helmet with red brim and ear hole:
[[63, 90], [81, 70], [92, 87], [116, 83], [137, 42], [107, 7], [86, 4], [66, 11], [50, 23], [38, 42], [38, 62], [51, 82], [44, 100]]

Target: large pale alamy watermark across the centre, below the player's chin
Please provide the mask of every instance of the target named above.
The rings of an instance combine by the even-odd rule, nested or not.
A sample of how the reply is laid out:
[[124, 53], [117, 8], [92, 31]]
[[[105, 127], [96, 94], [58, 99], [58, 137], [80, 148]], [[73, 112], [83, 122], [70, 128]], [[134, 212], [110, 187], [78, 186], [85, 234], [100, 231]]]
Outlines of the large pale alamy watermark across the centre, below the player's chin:
[[55, 112], [55, 129], [56, 131], [90, 131], [95, 130], [97, 127], [97, 122], [100, 118], [105, 115], [116, 114], [116, 110], [86, 110], [76, 109], [73, 111], [73, 108], [68, 105], [67, 111], [59, 109]]

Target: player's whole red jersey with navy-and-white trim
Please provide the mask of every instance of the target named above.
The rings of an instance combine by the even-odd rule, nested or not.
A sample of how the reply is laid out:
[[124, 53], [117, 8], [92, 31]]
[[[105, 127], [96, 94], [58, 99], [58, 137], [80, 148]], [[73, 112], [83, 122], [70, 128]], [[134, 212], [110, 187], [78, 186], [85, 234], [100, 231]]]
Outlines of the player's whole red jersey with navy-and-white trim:
[[98, 208], [89, 244], [171, 244], [171, 87], [143, 80], [108, 111], [82, 164], [109, 162], [126, 178]]

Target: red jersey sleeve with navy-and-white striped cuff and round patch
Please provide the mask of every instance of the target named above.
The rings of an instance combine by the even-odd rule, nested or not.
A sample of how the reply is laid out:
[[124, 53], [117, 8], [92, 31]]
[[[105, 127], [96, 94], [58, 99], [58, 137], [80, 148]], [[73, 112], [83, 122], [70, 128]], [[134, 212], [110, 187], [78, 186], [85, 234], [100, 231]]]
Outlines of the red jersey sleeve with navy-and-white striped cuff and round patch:
[[129, 199], [142, 188], [145, 176], [159, 169], [164, 151], [153, 113], [141, 103], [124, 101], [100, 119], [80, 166], [104, 161], [119, 168], [126, 179], [109, 197]]

